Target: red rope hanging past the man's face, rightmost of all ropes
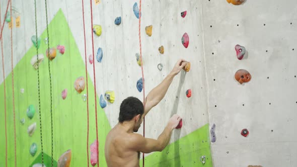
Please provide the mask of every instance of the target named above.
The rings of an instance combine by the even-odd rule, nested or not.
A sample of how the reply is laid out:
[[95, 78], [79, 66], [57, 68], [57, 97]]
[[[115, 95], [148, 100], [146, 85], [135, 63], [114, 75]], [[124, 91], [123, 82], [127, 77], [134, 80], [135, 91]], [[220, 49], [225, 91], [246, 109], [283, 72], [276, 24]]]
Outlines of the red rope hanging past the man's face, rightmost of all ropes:
[[[144, 75], [143, 75], [143, 63], [142, 63], [142, 53], [141, 53], [141, 33], [140, 33], [140, 23], [141, 23], [141, 0], [139, 0], [139, 49], [140, 49], [140, 61], [141, 61], [141, 73], [142, 73], [142, 83], [143, 83], [143, 107], [145, 111], [145, 91], [144, 91]], [[143, 118], [143, 137], [145, 137], [145, 118]], [[144, 153], [142, 153], [142, 166], [144, 167]]]

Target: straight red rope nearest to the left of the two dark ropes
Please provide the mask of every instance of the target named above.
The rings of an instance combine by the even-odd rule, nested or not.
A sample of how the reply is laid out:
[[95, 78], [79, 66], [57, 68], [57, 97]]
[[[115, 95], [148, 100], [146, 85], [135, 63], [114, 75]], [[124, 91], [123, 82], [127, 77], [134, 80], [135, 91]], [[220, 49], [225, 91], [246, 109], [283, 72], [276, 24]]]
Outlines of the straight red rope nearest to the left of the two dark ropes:
[[[12, 14], [12, 1], [10, 1], [10, 13]], [[13, 22], [13, 21], [11, 21], [11, 22]], [[13, 25], [11, 28], [11, 49], [12, 49], [13, 112], [14, 112], [14, 130], [15, 130], [14, 131], [14, 134], [15, 134], [15, 166], [17, 167], [17, 136], [16, 136], [15, 84], [14, 84]]]

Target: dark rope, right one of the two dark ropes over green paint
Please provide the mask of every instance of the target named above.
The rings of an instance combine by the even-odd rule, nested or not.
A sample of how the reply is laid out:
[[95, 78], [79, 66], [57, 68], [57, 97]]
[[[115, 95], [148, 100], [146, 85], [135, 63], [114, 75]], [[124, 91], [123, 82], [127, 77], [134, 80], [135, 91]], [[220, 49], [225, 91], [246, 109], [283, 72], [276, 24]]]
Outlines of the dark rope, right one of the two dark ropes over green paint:
[[46, 32], [47, 32], [47, 54], [48, 54], [48, 72], [49, 72], [49, 88], [50, 88], [50, 123], [51, 123], [51, 166], [53, 167], [53, 128], [52, 128], [52, 94], [51, 94], [51, 75], [49, 64], [49, 35], [48, 35], [48, 22], [47, 22], [47, 3], [45, 0], [45, 16], [46, 16]]

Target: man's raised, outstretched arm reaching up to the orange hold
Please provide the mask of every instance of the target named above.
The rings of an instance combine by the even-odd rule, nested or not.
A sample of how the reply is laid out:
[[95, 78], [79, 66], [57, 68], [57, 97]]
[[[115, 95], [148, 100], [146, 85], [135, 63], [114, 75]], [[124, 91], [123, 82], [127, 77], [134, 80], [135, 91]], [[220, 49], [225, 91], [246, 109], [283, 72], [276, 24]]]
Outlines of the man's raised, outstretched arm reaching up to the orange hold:
[[143, 117], [165, 97], [168, 88], [176, 76], [185, 66], [187, 62], [184, 59], [177, 61], [172, 71], [163, 79], [163, 81], [155, 87], [145, 98], [145, 110]]

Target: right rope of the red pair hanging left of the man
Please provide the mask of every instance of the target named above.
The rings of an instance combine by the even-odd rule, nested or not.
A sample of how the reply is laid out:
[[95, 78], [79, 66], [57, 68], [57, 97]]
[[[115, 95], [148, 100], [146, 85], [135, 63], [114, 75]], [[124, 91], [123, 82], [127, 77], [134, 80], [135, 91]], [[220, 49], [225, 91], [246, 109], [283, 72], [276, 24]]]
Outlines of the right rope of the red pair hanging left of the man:
[[[94, 59], [94, 37], [93, 37], [93, 10], [92, 10], [92, 0], [91, 2], [91, 30], [92, 30], [92, 49], [93, 49], [93, 61]], [[96, 75], [95, 75], [95, 62], [93, 62], [93, 72], [94, 72], [94, 91], [95, 91], [95, 114], [96, 114], [96, 138], [97, 138], [97, 158], [99, 167], [99, 140], [98, 140], [98, 123], [97, 123], [97, 94], [96, 94]]]

